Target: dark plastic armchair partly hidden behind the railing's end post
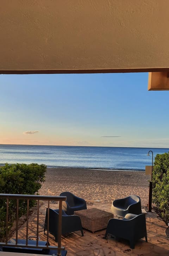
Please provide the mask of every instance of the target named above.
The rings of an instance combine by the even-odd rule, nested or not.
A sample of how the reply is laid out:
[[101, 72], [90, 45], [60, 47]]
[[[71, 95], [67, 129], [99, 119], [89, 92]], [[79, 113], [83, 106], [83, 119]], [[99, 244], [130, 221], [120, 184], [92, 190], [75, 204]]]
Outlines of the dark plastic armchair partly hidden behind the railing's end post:
[[[49, 232], [55, 237], [55, 241], [58, 242], [58, 221], [59, 220], [59, 209], [53, 210], [49, 208]], [[44, 224], [44, 233], [48, 229], [48, 208], [46, 208], [46, 217]], [[81, 219], [79, 216], [70, 215], [68, 216], [62, 210], [62, 235], [70, 232], [81, 231], [83, 236], [83, 228]]]

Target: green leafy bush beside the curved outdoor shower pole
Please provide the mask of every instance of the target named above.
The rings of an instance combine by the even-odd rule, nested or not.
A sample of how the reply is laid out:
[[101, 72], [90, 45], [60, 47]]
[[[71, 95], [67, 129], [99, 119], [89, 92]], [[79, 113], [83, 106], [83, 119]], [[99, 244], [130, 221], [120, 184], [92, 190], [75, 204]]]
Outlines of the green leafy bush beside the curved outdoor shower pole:
[[169, 152], [157, 154], [153, 174], [152, 201], [156, 204], [162, 219], [169, 222]]

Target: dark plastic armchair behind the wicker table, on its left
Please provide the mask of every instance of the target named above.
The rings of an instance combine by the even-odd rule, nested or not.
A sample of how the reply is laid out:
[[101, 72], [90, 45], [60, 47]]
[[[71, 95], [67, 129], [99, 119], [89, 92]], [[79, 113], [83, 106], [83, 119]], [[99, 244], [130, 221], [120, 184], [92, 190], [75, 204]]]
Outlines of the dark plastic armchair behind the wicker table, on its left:
[[62, 209], [68, 214], [73, 215], [74, 211], [87, 209], [86, 201], [80, 197], [75, 196], [70, 192], [62, 192], [60, 196], [66, 196], [66, 201], [62, 202]]

